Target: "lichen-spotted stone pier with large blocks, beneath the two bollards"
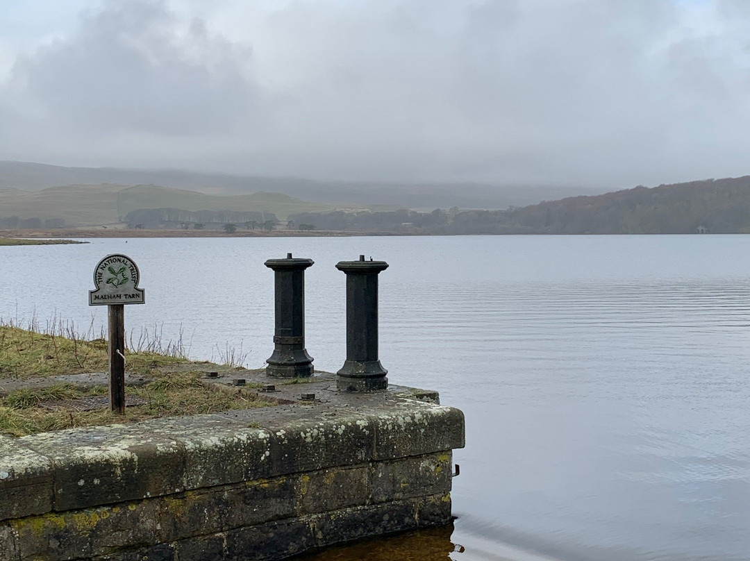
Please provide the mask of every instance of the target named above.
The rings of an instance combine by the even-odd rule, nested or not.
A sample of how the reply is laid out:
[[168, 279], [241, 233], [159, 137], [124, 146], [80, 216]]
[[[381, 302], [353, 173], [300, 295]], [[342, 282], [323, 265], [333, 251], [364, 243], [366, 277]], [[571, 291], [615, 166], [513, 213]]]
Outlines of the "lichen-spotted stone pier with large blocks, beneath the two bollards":
[[0, 561], [272, 561], [450, 522], [463, 413], [436, 393], [233, 377], [275, 404], [0, 436]]

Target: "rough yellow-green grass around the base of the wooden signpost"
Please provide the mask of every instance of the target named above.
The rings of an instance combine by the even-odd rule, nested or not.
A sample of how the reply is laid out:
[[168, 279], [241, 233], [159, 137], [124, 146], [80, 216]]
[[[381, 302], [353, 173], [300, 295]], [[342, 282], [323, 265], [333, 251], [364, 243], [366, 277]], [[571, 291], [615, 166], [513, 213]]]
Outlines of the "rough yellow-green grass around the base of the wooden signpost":
[[[169, 346], [167, 346], [169, 347]], [[144, 386], [128, 387], [145, 404], [127, 407], [124, 416], [108, 408], [95, 411], [49, 410], [50, 401], [76, 400], [106, 396], [106, 386], [81, 387], [55, 383], [43, 388], [21, 388], [0, 398], [0, 434], [23, 437], [65, 428], [90, 427], [113, 423], [132, 423], [166, 416], [264, 407], [251, 392], [239, 388], [208, 386], [204, 374], [191, 370], [184, 356], [154, 352], [126, 352], [127, 370], [143, 374], [150, 380]], [[179, 365], [181, 368], [175, 368]], [[197, 368], [197, 367], [196, 367]], [[107, 370], [107, 342], [86, 341], [57, 334], [43, 334], [17, 326], [0, 325], [0, 385], [3, 379], [55, 377]]]

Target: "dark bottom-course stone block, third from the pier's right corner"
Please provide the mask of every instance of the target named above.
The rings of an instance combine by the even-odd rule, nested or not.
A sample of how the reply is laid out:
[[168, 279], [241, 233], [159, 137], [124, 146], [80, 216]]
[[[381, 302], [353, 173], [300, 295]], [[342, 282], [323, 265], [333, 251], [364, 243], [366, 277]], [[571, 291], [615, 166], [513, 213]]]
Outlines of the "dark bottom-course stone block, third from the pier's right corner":
[[228, 561], [270, 561], [302, 553], [315, 544], [304, 517], [226, 532]]

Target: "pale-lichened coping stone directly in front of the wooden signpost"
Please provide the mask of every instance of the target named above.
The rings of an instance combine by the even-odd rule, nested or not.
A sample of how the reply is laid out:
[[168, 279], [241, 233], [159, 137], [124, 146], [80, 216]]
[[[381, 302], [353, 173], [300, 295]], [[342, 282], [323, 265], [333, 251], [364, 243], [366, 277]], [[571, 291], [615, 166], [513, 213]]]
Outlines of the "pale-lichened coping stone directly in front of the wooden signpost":
[[144, 425], [56, 431], [19, 440], [52, 460], [55, 511], [179, 493], [184, 488], [182, 447]]

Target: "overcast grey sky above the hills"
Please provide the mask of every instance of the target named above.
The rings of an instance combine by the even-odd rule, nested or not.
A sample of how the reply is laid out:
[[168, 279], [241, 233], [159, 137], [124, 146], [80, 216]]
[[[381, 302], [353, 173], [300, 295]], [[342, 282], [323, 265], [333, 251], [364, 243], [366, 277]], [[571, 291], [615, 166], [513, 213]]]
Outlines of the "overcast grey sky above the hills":
[[750, 175], [746, 0], [3, 5], [3, 160], [607, 188]]

